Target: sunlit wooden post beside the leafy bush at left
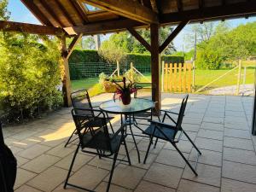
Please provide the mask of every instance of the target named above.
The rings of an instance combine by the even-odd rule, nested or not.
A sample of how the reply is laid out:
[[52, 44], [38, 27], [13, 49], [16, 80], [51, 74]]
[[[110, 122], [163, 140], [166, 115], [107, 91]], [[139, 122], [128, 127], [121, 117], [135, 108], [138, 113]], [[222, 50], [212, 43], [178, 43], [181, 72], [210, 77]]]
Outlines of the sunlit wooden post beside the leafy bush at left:
[[70, 94], [71, 94], [71, 83], [70, 83], [70, 75], [69, 75], [69, 67], [68, 67], [68, 60], [67, 60], [67, 44], [66, 44], [66, 37], [61, 37], [61, 55], [64, 65], [64, 77], [63, 77], [63, 101], [65, 107], [70, 107], [72, 105]]

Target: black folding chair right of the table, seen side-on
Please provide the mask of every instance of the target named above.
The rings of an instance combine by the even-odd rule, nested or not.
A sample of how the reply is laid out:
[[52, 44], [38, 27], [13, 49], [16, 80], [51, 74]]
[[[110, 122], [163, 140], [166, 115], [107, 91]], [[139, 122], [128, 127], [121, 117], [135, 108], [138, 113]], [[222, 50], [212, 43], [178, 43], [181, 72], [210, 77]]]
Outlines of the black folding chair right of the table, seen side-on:
[[[168, 125], [163, 122], [150, 121], [150, 125], [143, 132], [144, 134], [146, 134], [150, 137], [150, 142], [148, 144], [148, 150], [147, 150], [147, 154], [144, 159], [144, 163], [146, 163], [146, 160], [148, 158], [148, 151], [152, 144], [153, 137], [156, 137], [157, 139], [163, 139], [165, 141], [172, 143], [172, 146], [174, 148], [176, 148], [178, 154], [180, 154], [182, 156], [183, 160], [185, 160], [186, 164], [189, 166], [189, 168], [192, 170], [192, 172], [194, 172], [195, 175], [197, 176], [197, 172], [195, 170], [196, 170], [198, 157], [199, 157], [199, 155], [201, 155], [201, 151], [195, 146], [195, 143], [193, 143], [193, 141], [190, 139], [188, 134], [185, 131], [183, 131], [183, 128], [182, 128], [183, 115], [184, 115], [185, 108], [186, 108], [186, 105], [188, 102], [188, 98], [189, 98], [189, 95], [187, 95], [183, 98], [183, 102], [181, 104], [181, 108], [178, 113], [177, 121], [172, 119], [173, 123], [175, 125]], [[172, 117], [170, 116], [170, 118], [172, 118]], [[184, 157], [183, 153], [177, 148], [177, 143], [179, 143], [180, 138], [182, 137], [182, 134], [184, 134], [189, 139], [189, 142], [194, 146], [194, 148], [197, 150], [197, 152], [199, 154], [197, 157], [196, 163], [195, 163], [195, 169], [190, 165], [189, 160], [187, 160]]]

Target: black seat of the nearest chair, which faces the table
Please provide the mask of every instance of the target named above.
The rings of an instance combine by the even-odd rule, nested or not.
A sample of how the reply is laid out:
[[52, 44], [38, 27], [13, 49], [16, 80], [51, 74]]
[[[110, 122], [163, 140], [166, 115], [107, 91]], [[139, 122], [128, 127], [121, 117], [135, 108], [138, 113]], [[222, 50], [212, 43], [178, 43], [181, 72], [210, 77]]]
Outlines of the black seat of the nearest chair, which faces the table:
[[[109, 134], [109, 137], [112, 138], [113, 134]], [[82, 148], [95, 148], [115, 153], [118, 150], [120, 140], [121, 136], [115, 136], [113, 139], [109, 140], [109, 138], [106, 137], [106, 134], [100, 130], [96, 131], [94, 137], [91, 137], [90, 134], [85, 134], [83, 137]], [[109, 141], [111, 146], [109, 146]]]

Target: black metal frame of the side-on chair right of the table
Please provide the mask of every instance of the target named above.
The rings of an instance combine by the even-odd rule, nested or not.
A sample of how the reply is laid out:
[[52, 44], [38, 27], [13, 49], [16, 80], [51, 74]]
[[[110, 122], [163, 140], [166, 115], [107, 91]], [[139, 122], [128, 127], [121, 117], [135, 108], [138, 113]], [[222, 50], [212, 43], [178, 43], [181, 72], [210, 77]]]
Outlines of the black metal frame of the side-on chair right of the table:
[[[188, 101], [188, 98], [189, 98], [189, 95], [185, 96], [183, 98], [183, 102], [181, 104], [181, 108], [180, 108], [180, 111], [179, 113], [175, 113], [178, 115], [178, 118], [177, 118], [177, 121], [175, 121], [174, 119], [172, 119], [172, 117], [167, 114], [167, 112], [165, 113], [164, 115], [164, 118], [162, 120], [162, 122], [157, 122], [157, 121], [150, 121], [151, 125], [154, 125], [154, 131], [149, 135], [150, 137], [150, 141], [149, 141], [149, 144], [148, 144], [148, 149], [147, 149], [147, 153], [146, 153], [146, 156], [145, 156], [145, 159], [144, 159], [144, 164], [146, 163], [146, 160], [148, 158], [148, 152], [149, 152], [149, 149], [150, 149], [150, 146], [153, 142], [153, 138], [156, 137], [154, 134], [155, 134], [155, 131], [159, 131], [160, 134], [163, 136], [163, 137], [156, 137], [157, 140], [158, 139], [163, 139], [165, 141], [168, 141], [170, 143], [172, 143], [172, 146], [177, 150], [178, 154], [180, 154], [183, 158], [183, 160], [186, 162], [186, 164], [189, 166], [189, 168], [191, 169], [192, 172], [195, 173], [195, 176], [197, 176], [197, 172], [196, 172], [196, 166], [197, 166], [197, 162], [198, 162], [198, 158], [199, 158], [199, 155], [201, 155], [201, 151], [195, 146], [195, 143], [193, 143], [193, 141], [190, 139], [190, 137], [188, 136], [188, 134], [183, 131], [183, 128], [182, 128], [182, 121], [183, 121], [183, 115], [184, 115], [184, 111], [185, 111], [185, 108], [186, 108], [186, 105], [187, 105], [187, 101]], [[175, 126], [172, 126], [172, 125], [168, 125], [168, 124], [165, 124], [163, 121], [165, 120], [165, 117], [166, 115], [168, 117], [170, 117], [172, 119], [172, 122], [175, 124]], [[170, 137], [168, 137], [166, 135], [166, 133], [163, 131], [163, 129], [171, 129], [174, 131], [174, 134], [173, 134], [173, 137], [172, 139], [170, 139]], [[179, 136], [177, 137], [177, 133], [179, 132]], [[145, 132], [144, 132], [145, 133]], [[147, 133], [145, 133], [147, 134]], [[193, 145], [193, 147], [196, 149], [196, 151], [198, 152], [198, 155], [197, 155], [197, 159], [196, 159], [196, 162], [195, 162], [195, 168], [193, 166], [190, 165], [189, 163], [189, 160], [187, 160], [183, 153], [179, 150], [179, 148], [177, 148], [177, 143], [179, 143], [180, 139], [181, 139], [181, 136], [182, 134], [184, 134], [188, 139], [189, 139], [189, 142]], [[156, 145], [157, 141], [155, 142], [154, 145]]]

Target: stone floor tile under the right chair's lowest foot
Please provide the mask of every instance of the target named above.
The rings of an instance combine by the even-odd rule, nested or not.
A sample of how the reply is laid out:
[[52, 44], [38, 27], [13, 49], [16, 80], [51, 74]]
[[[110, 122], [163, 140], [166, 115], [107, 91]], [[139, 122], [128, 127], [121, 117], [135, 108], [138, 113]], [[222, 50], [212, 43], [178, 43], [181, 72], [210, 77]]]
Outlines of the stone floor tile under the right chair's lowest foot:
[[[192, 163], [192, 166], [195, 166], [194, 163]], [[196, 172], [198, 173], [197, 177], [190, 170], [189, 166], [186, 166], [183, 172], [183, 178], [220, 187], [221, 167], [198, 163]]]

